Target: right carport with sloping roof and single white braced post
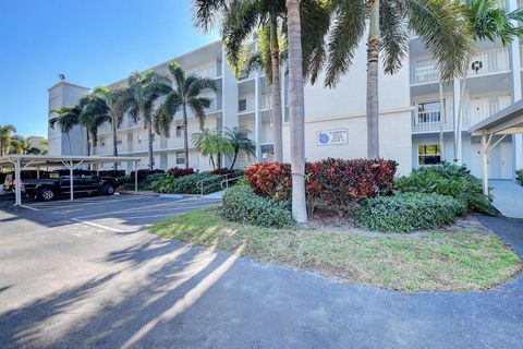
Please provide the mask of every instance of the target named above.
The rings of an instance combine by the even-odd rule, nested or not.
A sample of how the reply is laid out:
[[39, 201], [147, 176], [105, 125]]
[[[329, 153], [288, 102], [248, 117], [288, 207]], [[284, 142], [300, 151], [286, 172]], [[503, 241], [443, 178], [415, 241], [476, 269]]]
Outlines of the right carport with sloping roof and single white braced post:
[[[523, 100], [498, 111], [494, 116], [476, 123], [470, 129], [472, 135], [482, 137], [483, 193], [488, 195], [488, 154], [507, 135], [523, 133]], [[499, 139], [492, 143], [492, 137]]]

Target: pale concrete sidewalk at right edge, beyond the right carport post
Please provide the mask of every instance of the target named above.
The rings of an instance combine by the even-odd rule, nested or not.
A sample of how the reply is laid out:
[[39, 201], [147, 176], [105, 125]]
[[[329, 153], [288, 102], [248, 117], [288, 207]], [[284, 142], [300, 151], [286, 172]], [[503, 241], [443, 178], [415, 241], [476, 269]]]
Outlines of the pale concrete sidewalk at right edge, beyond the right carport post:
[[511, 180], [490, 180], [488, 184], [492, 188], [492, 204], [503, 216], [523, 218], [523, 185]]

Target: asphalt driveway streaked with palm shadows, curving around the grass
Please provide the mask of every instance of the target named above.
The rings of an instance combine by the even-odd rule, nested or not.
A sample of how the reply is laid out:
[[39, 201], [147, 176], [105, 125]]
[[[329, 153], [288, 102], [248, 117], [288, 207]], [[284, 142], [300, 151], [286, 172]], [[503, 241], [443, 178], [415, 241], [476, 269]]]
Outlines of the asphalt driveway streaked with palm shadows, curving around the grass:
[[[403, 294], [146, 230], [215, 203], [114, 196], [0, 210], [0, 347], [521, 348], [521, 277], [488, 292]], [[523, 220], [481, 220], [523, 254]]]

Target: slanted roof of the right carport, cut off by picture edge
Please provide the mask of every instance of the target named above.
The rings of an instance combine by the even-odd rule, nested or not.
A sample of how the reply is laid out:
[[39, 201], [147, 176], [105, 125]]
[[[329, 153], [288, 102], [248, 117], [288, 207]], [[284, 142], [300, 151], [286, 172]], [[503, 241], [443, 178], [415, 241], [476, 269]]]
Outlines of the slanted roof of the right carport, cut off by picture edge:
[[472, 135], [523, 133], [523, 100], [496, 112], [469, 129]]

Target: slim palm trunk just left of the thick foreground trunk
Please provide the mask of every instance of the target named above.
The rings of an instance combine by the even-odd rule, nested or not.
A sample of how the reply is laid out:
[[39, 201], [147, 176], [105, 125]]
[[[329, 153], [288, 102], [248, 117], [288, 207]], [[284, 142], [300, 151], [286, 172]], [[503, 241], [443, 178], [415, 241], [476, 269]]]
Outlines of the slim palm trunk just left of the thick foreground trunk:
[[270, 55], [272, 63], [272, 137], [275, 161], [283, 161], [282, 118], [281, 118], [281, 82], [280, 82], [280, 47], [278, 44], [278, 17], [270, 19]]

